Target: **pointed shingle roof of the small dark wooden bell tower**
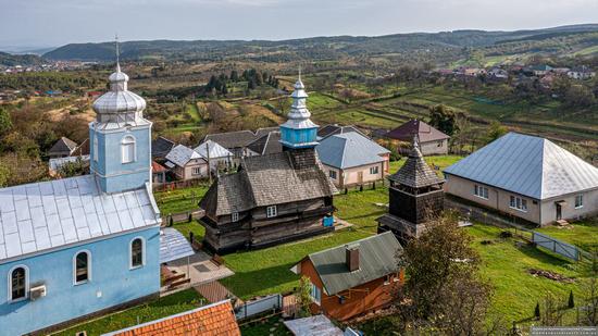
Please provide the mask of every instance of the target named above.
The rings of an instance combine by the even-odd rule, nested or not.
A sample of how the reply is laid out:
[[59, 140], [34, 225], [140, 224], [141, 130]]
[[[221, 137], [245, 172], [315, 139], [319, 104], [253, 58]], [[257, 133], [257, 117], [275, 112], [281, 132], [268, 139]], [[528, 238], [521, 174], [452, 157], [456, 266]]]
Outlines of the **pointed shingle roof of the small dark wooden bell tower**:
[[411, 188], [422, 188], [444, 183], [427, 165], [418, 144], [413, 146], [404, 164], [397, 173], [388, 176], [388, 179]]

